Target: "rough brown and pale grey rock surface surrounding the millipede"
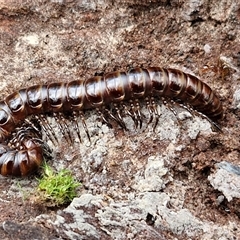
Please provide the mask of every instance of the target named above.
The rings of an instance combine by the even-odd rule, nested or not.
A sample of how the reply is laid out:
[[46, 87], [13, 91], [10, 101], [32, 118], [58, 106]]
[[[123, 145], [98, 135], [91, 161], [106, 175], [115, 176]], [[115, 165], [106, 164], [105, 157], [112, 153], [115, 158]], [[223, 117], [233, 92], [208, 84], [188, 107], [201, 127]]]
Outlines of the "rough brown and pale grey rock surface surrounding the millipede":
[[[91, 143], [61, 139], [50, 164], [82, 183], [69, 206], [34, 200], [37, 175], [0, 177], [1, 239], [239, 239], [240, 4], [237, 0], [0, 1], [1, 99], [34, 84], [134, 67], [177, 68], [220, 97], [207, 119], [158, 103], [153, 131], [85, 113]], [[143, 102], [141, 111], [148, 112]], [[170, 103], [169, 103], [170, 104]], [[44, 134], [44, 133], [43, 133]]]

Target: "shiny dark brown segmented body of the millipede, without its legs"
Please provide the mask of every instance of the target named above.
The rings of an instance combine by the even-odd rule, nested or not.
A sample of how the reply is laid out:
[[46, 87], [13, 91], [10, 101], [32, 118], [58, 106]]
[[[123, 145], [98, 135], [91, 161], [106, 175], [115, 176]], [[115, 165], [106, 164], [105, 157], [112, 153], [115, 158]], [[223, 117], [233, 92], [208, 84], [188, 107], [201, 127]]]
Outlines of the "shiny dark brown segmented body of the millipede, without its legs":
[[[222, 104], [207, 84], [170, 68], [135, 68], [127, 73], [116, 71], [86, 81], [36, 85], [14, 92], [0, 102], [0, 173], [24, 176], [41, 164], [43, 150], [36, 139], [23, 137], [20, 149], [8, 146], [12, 132], [30, 115], [81, 112], [103, 109], [112, 103], [162, 97], [190, 105], [213, 122], [223, 116]], [[148, 108], [150, 114], [156, 114], [149, 100]], [[134, 119], [135, 113], [128, 112]], [[121, 115], [110, 115], [124, 125]]]

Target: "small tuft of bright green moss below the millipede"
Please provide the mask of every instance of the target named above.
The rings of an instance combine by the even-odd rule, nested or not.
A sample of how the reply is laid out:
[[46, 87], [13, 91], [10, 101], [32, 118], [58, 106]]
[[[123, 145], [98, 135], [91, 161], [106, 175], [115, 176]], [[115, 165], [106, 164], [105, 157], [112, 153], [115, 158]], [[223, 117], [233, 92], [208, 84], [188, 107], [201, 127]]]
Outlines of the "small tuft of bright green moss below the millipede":
[[74, 180], [69, 170], [62, 169], [54, 173], [47, 164], [43, 169], [43, 177], [38, 179], [38, 193], [41, 201], [48, 202], [47, 205], [59, 206], [71, 202], [77, 196], [76, 189], [80, 183]]

